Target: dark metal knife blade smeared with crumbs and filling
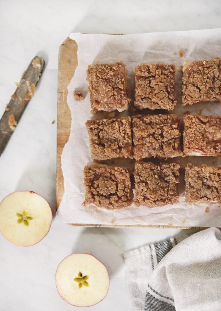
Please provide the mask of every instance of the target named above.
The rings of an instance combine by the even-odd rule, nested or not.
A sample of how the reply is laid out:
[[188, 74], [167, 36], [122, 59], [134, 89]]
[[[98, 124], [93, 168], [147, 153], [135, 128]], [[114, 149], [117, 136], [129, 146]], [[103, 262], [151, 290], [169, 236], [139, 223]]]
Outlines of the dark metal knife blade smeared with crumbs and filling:
[[25, 107], [34, 95], [43, 67], [43, 58], [35, 56], [27, 70], [23, 73], [20, 83], [16, 83], [17, 89], [11, 96], [10, 102], [6, 105], [5, 112], [0, 120], [0, 156], [14, 132]]

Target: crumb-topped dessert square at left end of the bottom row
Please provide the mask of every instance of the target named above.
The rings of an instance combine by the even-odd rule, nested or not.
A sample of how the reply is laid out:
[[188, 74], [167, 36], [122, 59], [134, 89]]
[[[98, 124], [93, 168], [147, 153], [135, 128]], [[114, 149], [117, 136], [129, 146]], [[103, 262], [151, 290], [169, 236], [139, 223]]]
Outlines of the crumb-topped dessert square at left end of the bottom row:
[[84, 168], [85, 200], [82, 205], [95, 205], [109, 210], [130, 206], [132, 191], [128, 169], [92, 164]]

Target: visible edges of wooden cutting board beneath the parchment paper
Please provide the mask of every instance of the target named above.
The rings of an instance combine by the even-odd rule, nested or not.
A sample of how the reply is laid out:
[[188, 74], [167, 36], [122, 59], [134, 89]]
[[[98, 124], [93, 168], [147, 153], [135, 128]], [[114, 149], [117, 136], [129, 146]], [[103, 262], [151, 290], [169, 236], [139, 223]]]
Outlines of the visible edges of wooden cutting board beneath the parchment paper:
[[[57, 169], [56, 169], [56, 209], [64, 195], [64, 178], [61, 170], [61, 154], [68, 142], [71, 126], [71, 114], [67, 104], [68, 90], [75, 69], [78, 65], [77, 44], [69, 37], [61, 44], [58, 57], [58, 90], [57, 90]], [[206, 227], [185, 227], [169, 225], [98, 225], [98, 224], [69, 224], [84, 227], [151, 227], [151, 228], [181, 228], [205, 229]]]

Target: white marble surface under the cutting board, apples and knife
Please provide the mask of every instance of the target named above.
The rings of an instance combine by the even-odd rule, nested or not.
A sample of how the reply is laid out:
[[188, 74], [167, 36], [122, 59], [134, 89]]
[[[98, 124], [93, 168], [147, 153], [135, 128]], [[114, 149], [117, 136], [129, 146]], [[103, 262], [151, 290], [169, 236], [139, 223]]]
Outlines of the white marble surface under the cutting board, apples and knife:
[[[46, 69], [34, 98], [0, 157], [0, 200], [16, 190], [33, 190], [55, 211], [56, 88], [58, 49], [70, 32], [139, 33], [221, 27], [214, 1], [0, 0], [0, 114], [15, 81], [35, 55]], [[73, 252], [103, 261], [109, 293], [90, 310], [129, 310], [122, 253], [186, 233], [176, 229], [69, 227], [53, 219], [48, 235], [22, 248], [0, 236], [0, 311], [78, 310], [65, 303], [54, 283], [59, 262]], [[84, 308], [81, 308], [81, 310]]]

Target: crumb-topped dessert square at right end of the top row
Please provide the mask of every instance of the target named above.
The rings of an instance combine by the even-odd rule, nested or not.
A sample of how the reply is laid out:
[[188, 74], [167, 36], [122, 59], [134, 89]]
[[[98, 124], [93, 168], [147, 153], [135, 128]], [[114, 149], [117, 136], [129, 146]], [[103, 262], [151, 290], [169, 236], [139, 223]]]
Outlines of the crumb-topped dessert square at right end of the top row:
[[186, 61], [183, 71], [183, 106], [221, 101], [221, 60]]

